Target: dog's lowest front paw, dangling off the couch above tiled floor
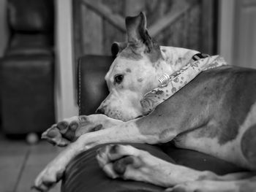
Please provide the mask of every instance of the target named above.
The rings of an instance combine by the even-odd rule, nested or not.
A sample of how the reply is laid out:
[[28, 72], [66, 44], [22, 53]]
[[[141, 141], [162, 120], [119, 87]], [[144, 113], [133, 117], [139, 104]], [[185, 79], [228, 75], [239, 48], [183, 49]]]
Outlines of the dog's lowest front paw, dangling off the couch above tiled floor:
[[36, 189], [37, 191], [49, 191], [50, 188], [52, 188], [54, 185], [56, 185], [56, 183], [59, 182], [59, 180], [61, 180], [61, 177], [64, 174], [64, 170], [65, 169], [63, 169], [61, 166], [49, 164], [37, 176], [32, 188]]

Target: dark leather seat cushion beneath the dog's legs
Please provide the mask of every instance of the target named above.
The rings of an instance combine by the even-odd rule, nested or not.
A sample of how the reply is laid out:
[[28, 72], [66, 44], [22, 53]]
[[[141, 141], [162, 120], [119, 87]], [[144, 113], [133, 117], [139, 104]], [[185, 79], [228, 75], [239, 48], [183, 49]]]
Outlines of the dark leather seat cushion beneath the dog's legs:
[[[244, 171], [237, 166], [219, 160], [210, 155], [198, 153], [193, 150], [182, 150], [167, 146], [169, 153], [162, 151], [162, 148], [157, 145], [121, 143], [122, 145], [132, 145], [140, 150], [146, 150], [151, 155], [162, 158], [173, 164], [181, 164], [197, 170], [211, 170], [218, 174], [227, 174], [230, 172]], [[105, 144], [108, 145], [108, 144]], [[111, 179], [106, 176], [105, 172], [99, 168], [97, 163], [96, 151], [98, 145], [90, 150], [80, 153], [67, 166], [62, 183], [62, 192], [123, 192], [123, 191], [163, 191], [164, 188], [133, 180]]]

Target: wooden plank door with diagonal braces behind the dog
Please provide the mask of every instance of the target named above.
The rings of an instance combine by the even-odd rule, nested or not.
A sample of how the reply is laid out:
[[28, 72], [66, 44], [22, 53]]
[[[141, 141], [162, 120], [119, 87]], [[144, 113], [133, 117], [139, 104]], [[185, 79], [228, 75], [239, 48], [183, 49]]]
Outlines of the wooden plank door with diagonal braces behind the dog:
[[73, 0], [75, 58], [110, 55], [126, 39], [124, 18], [146, 13], [148, 31], [159, 45], [216, 53], [214, 0]]

